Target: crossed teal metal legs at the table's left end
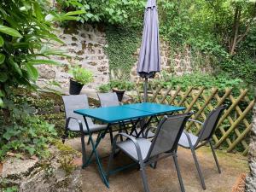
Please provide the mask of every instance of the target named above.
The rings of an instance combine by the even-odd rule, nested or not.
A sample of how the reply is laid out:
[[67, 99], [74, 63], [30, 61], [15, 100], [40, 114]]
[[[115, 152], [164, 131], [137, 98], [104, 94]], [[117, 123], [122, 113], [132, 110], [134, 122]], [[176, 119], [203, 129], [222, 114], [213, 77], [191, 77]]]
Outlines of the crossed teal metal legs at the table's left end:
[[[84, 123], [86, 125], [86, 128], [87, 128], [87, 131], [88, 131], [88, 134], [89, 134], [89, 137], [90, 137], [90, 143], [91, 143], [91, 146], [92, 146], [92, 152], [91, 152], [91, 155], [90, 155], [90, 158], [87, 160], [87, 163], [90, 162], [90, 159], [91, 159], [91, 156], [92, 154], [95, 154], [95, 157], [96, 157], [96, 164], [98, 166], [98, 171], [100, 172], [100, 175], [102, 177], [102, 181], [103, 183], [105, 183], [105, 185], [109, 188], [109, 183], [108, 183], [108, 180], [106, 178], [106, 175], [105, 175], [105, 172], [103, 171], [103, 168], [102, 168], [102, 163], [101, 163], [101, 160], [99, 158], [99, 155], [97, 153], [97, 150], [96, 150], [96, 147], [98, 146], [98, 144], [101, 142], [102, 140], [102, 134], [100, 137], [98, 137], [98, 141], [96, 141], [96, 144], [94, 143], [93, 139], [92, 139], [92, 135], [90, 133], [90, 128], [89, 128], [89, 125], [87, 123], [87, 120], [86, 118], [84, 117]], [[106, 129], [106, 131], [104, 131], [104, 133], [106, 134], [106, 132], [108, 131], [108, 128]], [[104, 134], [103, 133], [103, 134]], [[87, 165], [83, 165], [83, 166], [87, 166]]]

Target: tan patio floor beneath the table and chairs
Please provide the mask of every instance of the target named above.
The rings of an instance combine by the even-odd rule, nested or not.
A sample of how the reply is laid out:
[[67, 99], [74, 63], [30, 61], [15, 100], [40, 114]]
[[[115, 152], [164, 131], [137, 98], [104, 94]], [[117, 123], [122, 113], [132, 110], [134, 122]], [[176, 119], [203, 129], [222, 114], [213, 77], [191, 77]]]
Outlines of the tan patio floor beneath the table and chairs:
[[[87, 139], [87, 138], [86, 138]], [[74, 138], [67, 141], [74, 149], [81, 151], [80, 139]], [[86, 145], [87, 153], [91, 150]], [[108, 137], [102, 140], [98, 148], [102, 157], [103, 166], [106, 169], [108, 165], [108, 155], [110, 153], [110, 141]], [[178, 163], [183, 177], [183, 183], [187, 192], [229, 192], [236, 183], [241, 173], [248, 172], [247, 157], [241, 154], [226, 154], [218, 150], [218, 160], [222, 173], [218, 174], [210, 148], [204, 147], [196, 151], [201, 170], [207, 185], [206, 190], [201, 189], [201, 183], [195, 169], [195, 163], [188, 149], [178, 148]], [[80, 161], [80, 160], [79, 160]], [[122, 166], [130, 163], [131, 160], [124, 154], [119, 154], [114, 159], [115, 166]], [[151, 192], [177, 192], [180, 191], [177, 180], [177, 173], [172, 158], [160, 160], [157, 168], [146, 168], [148, 184]], [[143, 191], [143, 183], [137, 167], [119, 172], [109, 179], [110, 189], [103, 183], [97, 172], [96, 163], [91, 164], [82, 170], [83, 191], [85, 192], [140, 192]]]

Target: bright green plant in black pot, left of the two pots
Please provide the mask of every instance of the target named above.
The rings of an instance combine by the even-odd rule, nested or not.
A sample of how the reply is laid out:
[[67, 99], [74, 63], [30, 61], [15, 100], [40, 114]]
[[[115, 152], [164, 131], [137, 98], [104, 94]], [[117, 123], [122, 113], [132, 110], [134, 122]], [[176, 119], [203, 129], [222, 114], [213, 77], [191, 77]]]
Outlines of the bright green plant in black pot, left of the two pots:
[[69, 73], [73, 75], [69, 84], [70, 95], [79, 95], [84, 84], [89, 84], [93, 80], [92, 73], [79, 65], [70, 67]]

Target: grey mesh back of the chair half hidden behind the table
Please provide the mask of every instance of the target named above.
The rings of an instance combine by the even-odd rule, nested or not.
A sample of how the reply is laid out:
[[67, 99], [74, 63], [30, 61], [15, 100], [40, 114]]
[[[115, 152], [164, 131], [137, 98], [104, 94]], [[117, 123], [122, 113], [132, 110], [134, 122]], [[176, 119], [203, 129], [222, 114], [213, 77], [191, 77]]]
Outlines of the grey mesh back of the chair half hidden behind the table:
[[119, 98], [116, 93], [98, 93], [102, 107], [119, 106]]

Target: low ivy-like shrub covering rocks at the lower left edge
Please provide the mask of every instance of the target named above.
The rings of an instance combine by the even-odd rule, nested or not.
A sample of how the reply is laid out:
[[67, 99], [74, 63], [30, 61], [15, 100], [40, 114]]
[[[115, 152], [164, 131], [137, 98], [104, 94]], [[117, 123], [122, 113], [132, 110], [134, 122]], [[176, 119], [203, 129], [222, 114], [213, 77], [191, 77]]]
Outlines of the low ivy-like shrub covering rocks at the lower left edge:
[[25, 155], [44, 157], [53, 138], [57, 136], [54, 125], [38, 119], [37, 116], [27, 116], [12, 125], [4, 125], [0, 138], [0, 160], [7, 152], [17, 156]]

